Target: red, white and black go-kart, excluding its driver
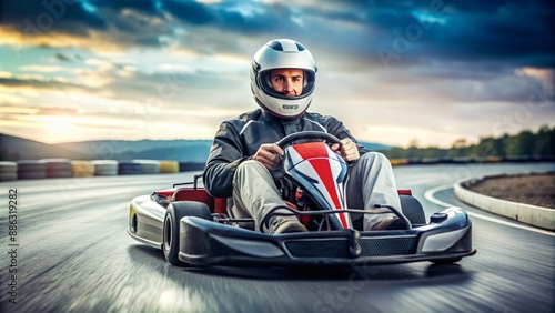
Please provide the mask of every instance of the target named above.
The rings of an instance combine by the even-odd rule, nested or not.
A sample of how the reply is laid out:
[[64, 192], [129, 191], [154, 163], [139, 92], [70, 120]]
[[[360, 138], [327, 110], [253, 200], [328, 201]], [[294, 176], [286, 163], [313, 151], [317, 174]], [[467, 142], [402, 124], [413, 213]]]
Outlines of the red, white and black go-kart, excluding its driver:
[[[252, 219], [235, 219], [228, 200], [210, 196], [199, 186], [201, 175], [195, 175], [189, 183], [192, 186], [175, 184], [133, 199], [128, 233], [161, 249], [172, 265], [454, 263], [476, 253], [466, 212], [448, 208], [426, 223], [424, 210], [410, 190], [398, 191], [402, 212], [387, 205], [346, 208], [347, 164], [331, 150], [333, 143], [341, 141], [324, 132], [300, 132], [276, 142], [284, 150], [276, 183], [287, 203], [276, 209], [287, 209], [309, 232], [255, 232]], [[407, 229], [362, 229], [364, 214], [392, 212]]]

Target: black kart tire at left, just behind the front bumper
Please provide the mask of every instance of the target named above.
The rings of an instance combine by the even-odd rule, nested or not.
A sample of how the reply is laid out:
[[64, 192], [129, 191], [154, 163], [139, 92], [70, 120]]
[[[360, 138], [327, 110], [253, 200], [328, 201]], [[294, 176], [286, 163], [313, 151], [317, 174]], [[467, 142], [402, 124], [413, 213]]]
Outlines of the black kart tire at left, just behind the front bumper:
[[163, 228], [163, 243], [162, 250], [164, 252], [165, 260], [172, 265], [183, 266], [185, 265], [178, 258], [179, 255], [179, 225], [181, 219], [185, 216], [196, 216], [204, 220], [212, 220], [212, 214], [210, 213], [206, 204], [194, 201], [178, 201], [172, 202], [168, 205], [168, 211], [164, 218]]

